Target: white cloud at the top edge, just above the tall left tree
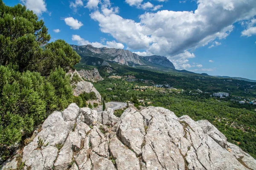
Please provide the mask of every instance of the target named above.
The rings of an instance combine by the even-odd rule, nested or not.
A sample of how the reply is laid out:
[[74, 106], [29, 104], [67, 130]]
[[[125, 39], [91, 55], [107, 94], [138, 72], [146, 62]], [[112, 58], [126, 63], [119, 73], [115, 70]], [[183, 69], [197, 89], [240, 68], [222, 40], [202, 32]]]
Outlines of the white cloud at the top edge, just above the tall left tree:
[[46, 3], [44, 0], [21, 0], [21, 3], [23, 3], [23, 5], [25, 5], [29, 10], [32, 10], [39, 16], [41, 16], [43, 12], [47, 11]]

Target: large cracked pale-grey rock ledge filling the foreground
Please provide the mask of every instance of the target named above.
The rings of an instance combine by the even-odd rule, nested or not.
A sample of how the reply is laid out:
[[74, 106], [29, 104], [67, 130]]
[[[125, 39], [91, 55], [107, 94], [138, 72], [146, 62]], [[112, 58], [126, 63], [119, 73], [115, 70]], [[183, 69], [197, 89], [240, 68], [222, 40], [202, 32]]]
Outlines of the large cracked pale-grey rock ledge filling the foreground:
[[[40, 131], [40, 130], [39, 130]], [[252, 170], [256, 160], [208, 121], [178, 118], [164, 108], [97, 113], [71, 104], [53, 112], [41, 131], [2, 169]]]

